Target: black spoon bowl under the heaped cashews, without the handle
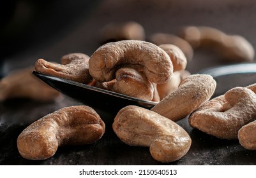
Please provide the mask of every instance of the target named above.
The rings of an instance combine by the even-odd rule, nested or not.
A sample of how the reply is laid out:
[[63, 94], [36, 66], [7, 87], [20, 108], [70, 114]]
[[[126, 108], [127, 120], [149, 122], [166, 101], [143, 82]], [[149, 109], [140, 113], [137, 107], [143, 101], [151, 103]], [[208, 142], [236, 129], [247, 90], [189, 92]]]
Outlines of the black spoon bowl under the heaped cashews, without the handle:
[[76, 81], [41, 74], [36, 71], [34, 71], [33, 74], [64, 95], [99, 111], [116, 113], [121, 108], [128, 105], [141, 106], [150, 109], [157, 104], [157, 102], [129, 97], [127, 95], [103, 90]]

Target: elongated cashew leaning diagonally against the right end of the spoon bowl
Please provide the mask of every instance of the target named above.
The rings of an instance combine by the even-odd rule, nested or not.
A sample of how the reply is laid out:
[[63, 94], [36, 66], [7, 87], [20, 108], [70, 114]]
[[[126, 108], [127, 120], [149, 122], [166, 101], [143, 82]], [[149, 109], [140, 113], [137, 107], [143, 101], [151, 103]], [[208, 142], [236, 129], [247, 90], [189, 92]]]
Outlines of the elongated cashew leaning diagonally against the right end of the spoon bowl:
[[179, 88], [156, 104], [154, 111], [178, 121], [198, 109], [215, 92], [216, 81], [207, 74], [193, 74], [181, 81]]

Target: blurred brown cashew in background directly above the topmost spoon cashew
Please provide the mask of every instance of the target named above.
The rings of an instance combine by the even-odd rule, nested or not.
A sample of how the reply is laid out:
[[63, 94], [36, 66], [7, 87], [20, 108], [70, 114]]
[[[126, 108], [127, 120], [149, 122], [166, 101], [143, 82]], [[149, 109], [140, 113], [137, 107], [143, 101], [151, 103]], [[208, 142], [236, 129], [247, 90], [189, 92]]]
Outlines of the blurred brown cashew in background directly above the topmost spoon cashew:
[[145, 40], [144, 27], [137, 22], [124, 22], [121, 24], [107, 24], [102, 29], [103, 41], [114, 42], [120, 40]]

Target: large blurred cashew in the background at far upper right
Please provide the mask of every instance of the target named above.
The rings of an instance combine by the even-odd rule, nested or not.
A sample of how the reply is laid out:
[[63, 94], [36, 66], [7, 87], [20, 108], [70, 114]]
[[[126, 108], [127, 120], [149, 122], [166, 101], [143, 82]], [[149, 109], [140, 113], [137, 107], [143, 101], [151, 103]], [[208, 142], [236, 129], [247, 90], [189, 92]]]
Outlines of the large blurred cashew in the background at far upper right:
[[252, 44], [243, 36], [228, 35], [213, 27], [184, 27], [180, 36], [188, 41], [193, 48], [213, 50], [225, 60], [252, 62], [255, 56]]

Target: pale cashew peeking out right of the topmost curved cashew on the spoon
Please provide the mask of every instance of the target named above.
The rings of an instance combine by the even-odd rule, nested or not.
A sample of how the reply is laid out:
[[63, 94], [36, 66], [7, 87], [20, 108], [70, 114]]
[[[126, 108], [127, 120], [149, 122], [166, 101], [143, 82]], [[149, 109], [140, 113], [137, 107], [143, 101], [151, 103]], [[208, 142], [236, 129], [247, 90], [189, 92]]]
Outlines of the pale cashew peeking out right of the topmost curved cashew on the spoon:
[[186, 57], [181, 49], [173, 44], [160, 44], [158, 47], [169, 55], [174, 71], [181, 71], [186, 68]]

